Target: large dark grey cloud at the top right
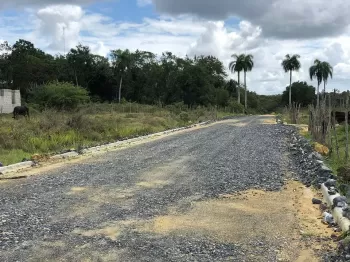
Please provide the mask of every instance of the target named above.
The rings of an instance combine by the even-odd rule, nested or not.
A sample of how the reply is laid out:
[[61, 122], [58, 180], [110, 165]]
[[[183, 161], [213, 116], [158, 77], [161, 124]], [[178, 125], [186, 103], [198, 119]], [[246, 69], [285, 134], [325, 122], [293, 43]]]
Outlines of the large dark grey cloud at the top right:
[[266, 36], [282, 39], [337, 36], [350, 23], [348, 0], [153, 0], [158, 12], [192, 14], [204, 19], [232, 16], [262, 27]]

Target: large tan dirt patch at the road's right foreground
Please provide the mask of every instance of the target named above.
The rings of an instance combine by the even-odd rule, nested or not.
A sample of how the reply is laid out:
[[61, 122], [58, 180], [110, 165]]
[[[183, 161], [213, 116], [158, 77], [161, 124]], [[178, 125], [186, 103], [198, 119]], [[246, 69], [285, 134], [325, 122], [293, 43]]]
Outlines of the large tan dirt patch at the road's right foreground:
[[[248, 243], [260, 237], [271, 242], [283, 239], [285, 245], [278, 250], [280, 261], [318, 261], [301, 232], [307, 232], [309, 244], [314, 241], [316, 245], [317, 237], [329, 237], [333, 231], [318, 219], [321, 213], [312, 205], [313, 197], [310, 189], [291, 181], [280, 192], [249, 190], [222, 195], [194, 202], [186, 213], [176, 213], [172, 208], [168, 215], [144, 223], [140, 230], [165, 235], [200, 234], [225, 243]], [[322, 248], [319, 244], [317, 249]]]

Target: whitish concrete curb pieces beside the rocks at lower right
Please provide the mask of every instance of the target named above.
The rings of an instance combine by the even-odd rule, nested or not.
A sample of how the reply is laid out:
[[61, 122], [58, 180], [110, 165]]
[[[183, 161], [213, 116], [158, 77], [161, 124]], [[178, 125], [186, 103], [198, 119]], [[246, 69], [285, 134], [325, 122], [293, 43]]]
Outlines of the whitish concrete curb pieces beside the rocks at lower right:
[[[325, 184], [321, 185], [321, 191], [323, 194], [324, 201], [327, 203], [327, 205], [330, 208], [332, 208], [332, 206], [333, 206], [333, 199], [341, 196], [339, 193], [336, 193], [334, 195], [330, 195], [328, 193], [328, 188]], [[343, 232], [348, 232], [349, 227], [350, 227], [350, 220], [343, 216], [343, 209], [341, 207], [333, 208], [332, 215], [333, 215], [334, 221], [338, 224], [338, 226], [341, 228], [341, 230]]]

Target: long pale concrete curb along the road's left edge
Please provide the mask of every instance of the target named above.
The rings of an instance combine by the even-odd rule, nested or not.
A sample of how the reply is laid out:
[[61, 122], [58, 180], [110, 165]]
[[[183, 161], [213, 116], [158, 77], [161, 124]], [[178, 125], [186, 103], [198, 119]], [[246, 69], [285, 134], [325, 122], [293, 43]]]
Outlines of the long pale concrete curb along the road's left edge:
[[[216, 121], [220, 121], [220, 120], [216, 120]], [[149, 135], [145, 135], [145, 136], [139, 136], [139, 137], [123, 140], [123, 141], [116, 141], [116, 142], [109, 143], [109, 144], [106, 144], [106, 145], [86, 148], [86, 149], [83, 149], [81, 152], [71, 151], [71, 152], [67, 152], [67, 153], [63, 153], [63, 154], [53, 155], [53, 156], [51, 156], [49, 158], [49, 160], [69, 160], [69, 159], [73, 159], [73, 158], [78, 158], [81, 155], [102, 154], [102, 153], [105, 153], [105, 152], [108, 152], [110, 150], [116, 149], [116, 148], [118, 148], [120, 146], [123, 146], [123, 145], [128, 145], [128, 144], [131, 144], [131, 143], [134, 143], [134, 142], [138, 142], [138, 141], [141, 141], [141, 140], [145, 140], [145, 139], [148, 139], [148, 138], [152, 138], [152, 137], [157, 137], [157, 136], [161, 136], [161, 135], [171, 134], [171, 133], [174, 133], [174, 132], [182, 131], [182, 130], [185, 130], [185, 129], [190, 129], [190, 128], [193, 128], [193, 127], [205, 126], [205, 125], [208, 125], [208, 124], [216, 122], [216, 121], [215, 120], [209, 120], [209, 121], [206, 121], [206, 122], [193, 124], [193, 125], [190, 125], [190, 126], [179, 127], [179, 128], [175, 128], [175, 129], [171, 129], [171, 130], [165, 130], [165, 131], [162, 131], [162, 132], [149, 134]], [[36, 166], [36, 165], [37, 165], [37, 163], [35, 163], [34, 161], [26, 161], [26, 162], [21, 162], [21, 163], [16, 163], [16, 164], [13, 164], [13, 165], [0, 167], [0, 176], [1, 175], [11, 174], [11, 173], [16, 173], [18, 171], [21, 171], [23, 169], [29, 169], [29, 168], [31, 168], [33, 166]]]

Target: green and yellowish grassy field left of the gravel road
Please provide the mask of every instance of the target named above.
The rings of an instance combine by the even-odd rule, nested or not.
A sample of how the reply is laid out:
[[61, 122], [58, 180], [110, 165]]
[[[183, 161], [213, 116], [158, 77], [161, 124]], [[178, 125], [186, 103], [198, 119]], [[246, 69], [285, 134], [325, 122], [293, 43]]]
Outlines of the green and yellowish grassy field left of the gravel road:
[[34, 154], [57, 153], [160, 132], [232, 115], [200, 108], [138, 104], [89, 104], [74, 112], [31, 110], [30, 120], [0, 115], [0, 162], [9, 165]]

